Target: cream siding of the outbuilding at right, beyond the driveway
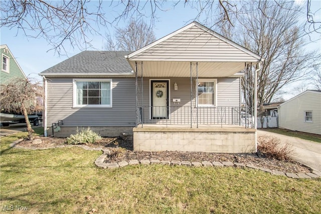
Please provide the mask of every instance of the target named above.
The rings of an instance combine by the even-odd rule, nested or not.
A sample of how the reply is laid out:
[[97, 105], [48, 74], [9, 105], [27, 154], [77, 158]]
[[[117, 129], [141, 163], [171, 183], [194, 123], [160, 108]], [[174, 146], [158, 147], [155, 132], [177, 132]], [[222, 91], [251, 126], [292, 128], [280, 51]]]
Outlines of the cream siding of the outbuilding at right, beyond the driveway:
[[[312, 123], [305, 122], [304, 112], [312, 111]], [[321, 134], [321, 92], [306, 91], [280, 105], [279, 127]]]

